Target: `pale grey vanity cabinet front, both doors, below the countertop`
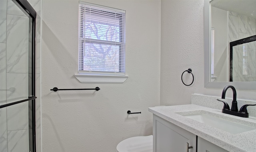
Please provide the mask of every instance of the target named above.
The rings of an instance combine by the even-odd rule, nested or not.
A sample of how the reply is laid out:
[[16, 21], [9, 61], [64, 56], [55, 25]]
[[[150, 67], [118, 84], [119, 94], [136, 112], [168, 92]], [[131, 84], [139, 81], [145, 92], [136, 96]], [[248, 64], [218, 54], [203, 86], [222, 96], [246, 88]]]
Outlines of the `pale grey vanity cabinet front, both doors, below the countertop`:
[[[168, 121], [153, 115], [153, 152], [228, 152]], [[188, 145], [187, 145], [188, 143]], [[187, 151], [187, 146], [192, 146]]]

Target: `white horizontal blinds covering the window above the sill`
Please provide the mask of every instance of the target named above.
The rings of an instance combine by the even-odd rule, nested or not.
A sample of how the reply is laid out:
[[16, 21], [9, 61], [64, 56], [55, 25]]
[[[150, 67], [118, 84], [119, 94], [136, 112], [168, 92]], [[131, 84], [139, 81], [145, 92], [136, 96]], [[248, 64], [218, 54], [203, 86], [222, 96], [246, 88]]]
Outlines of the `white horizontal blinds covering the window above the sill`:
[[125, 11], [79, 2], [79, 72], [125, 73]]

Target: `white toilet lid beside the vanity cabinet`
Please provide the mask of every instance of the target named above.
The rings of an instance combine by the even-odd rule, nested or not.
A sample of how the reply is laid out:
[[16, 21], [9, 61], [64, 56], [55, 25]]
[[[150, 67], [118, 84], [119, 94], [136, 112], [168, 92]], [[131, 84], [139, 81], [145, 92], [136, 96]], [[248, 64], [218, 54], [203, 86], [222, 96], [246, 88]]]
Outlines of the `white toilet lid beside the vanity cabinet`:
[[153, 152], [153, 135], [127, 138], [116, 146], [116, 150], [118, 152]]

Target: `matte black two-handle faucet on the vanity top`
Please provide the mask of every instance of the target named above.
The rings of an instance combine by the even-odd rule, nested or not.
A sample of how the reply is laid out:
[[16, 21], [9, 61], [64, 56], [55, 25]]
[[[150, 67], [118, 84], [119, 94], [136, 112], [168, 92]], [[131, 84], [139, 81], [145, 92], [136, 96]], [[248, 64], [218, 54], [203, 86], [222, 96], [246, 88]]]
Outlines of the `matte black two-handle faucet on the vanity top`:
[[[226, 86], [223, 90], [222, 90], [222, 99], [225, 99], [225, 95], [226, 95], [226, 91], [228, 90], [228, 88], [231, 88], [233, 91], [233, 100], [232, 100], [232, 106], [231, 106], [231, 110], [229, 108], [228, 103], [226, 103], [226, 101], [222, 101], [220, 99], [217, 99], [218, 101], [221, 101], [224, 103], [224, 106], [222, 108], [222, 113], [226, 113], [226, 114], [230, 114], [230, 115], [235, 115], [238, 117], [249, 117], [249, 113], [247, 112], [247, 107], [249, 105], [243, 105], [240, 110], [238, 111], [238, 107], [237, 107], [237, 101], [236, 101], [236, 89], [234, 86], [228, 85]], [[256, 104], [255, 104], [256, 105]]]

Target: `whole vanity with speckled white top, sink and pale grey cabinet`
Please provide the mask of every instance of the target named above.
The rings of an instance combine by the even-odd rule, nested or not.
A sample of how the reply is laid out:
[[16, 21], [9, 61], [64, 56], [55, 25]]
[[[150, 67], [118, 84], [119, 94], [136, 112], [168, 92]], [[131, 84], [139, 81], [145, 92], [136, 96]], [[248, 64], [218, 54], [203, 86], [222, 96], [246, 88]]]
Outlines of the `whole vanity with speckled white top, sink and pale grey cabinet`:
[[148, 109], [153, 113], [154, 152], [256, 152], [255, 117], [196, 104]]

